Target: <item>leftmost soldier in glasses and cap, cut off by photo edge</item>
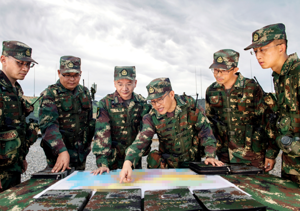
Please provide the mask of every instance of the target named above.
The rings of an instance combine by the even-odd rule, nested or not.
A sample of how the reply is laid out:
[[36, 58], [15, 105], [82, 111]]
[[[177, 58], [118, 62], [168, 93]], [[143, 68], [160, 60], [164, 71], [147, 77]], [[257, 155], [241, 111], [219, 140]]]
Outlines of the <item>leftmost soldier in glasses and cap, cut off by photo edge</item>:
[[[23, 80], [34, 66], [32, 48], [18, 41], [4, 41], [0, 71], [0, 192], [21, 182], [27, 169], [26, 155], [38, 138], [37, 122], [26, 123], [34, 109], [22, 98], [17, 80]], [[37, 62], [35, 62], [37, 63]]]

